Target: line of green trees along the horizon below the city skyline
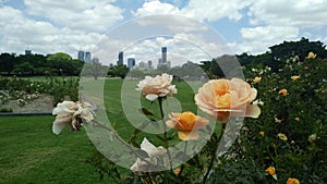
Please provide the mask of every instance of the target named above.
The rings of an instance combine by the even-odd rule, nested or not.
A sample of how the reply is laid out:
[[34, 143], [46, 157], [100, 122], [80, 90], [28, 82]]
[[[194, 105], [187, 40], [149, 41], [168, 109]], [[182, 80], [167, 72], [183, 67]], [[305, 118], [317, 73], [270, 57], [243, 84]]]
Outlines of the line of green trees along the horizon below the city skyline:
[[[104, 66], [99, 62], [84, 63], [77, 59], [72, 59], [69, 54], [58, 52], [51, 56], [43, 54], [0, 54], [0, 74], [1, 75], [80, 75], [83, 65], [84, 74], [98, 76], [112, 76], [124, 78], [144, 77], [145, 75], [156, 75], [160, 73], [170, 73], [189, 79], [208, 76], [209, 78], [223, 77], [222, 64], [230, 64], [232, 60], [238, 61], [242, 66], [257, 68], [258, 65], [269, 66], [272, 72], [278, 72], [286, 64], [286, 60], [298, 56], [303, 60], [308, 52], [314, 52], [318, 58], [326, 59], [326, 46], [320, 41], [310, 41], [301, 38], [299, 41], [283, 41], [282, 44], [269, 47], [269, 51], [262, 54], [242, 53], [237, 56], [221, 56], [210, 61], [201, 61], [199, 64], [191, 61], [181, 66], [167, 68], [162, 65], [153, 71], [132, 70], [126, 65]], [[234, 72], [234, 71], [229, 71]]]

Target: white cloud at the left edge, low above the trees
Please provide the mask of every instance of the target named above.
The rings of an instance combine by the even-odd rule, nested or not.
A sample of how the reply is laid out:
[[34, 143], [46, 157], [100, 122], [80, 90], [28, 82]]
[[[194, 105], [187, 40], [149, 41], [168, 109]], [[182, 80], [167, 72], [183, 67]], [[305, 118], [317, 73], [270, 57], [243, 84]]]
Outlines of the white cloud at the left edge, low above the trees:
[[2, 52], [23, 53], [26, 48], [36, 53], [68, 52], [73, 58], [78, 49], [92, 49], [101, 36], [71, 28], [58, 28], [45, 21], [24, 16], [10, 7], [0, 8], [0, 49]]

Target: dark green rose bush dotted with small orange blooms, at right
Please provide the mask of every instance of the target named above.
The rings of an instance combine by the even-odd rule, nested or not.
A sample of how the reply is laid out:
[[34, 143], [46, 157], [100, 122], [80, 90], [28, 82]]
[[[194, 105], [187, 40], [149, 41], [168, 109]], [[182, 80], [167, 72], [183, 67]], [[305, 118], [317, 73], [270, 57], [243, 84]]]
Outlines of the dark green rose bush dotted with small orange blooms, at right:
[[[216, 182], [286, 183], [289, 177], [301, 183], [327, 182], [327, 60], [293, 57], [283, 65], [277, 73], [262, 65], [245, 68], [246, 78], [264, 102], [262, 115], [245, 120], [240, 143], [216, 169]], [[261, 82], [253, 82], [256, 76]], [[283, 88], [286, 96], [278, 94]], [[278, 181], [264, 175], [270, 165]], [[244, 181], [235, 182], [240, 177]]]

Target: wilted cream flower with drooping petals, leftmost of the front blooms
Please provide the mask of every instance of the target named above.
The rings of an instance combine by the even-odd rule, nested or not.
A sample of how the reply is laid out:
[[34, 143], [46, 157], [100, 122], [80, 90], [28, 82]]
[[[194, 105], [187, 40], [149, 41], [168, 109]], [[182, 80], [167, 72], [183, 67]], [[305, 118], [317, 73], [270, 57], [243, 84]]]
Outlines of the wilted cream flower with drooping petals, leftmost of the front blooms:
[[92, 121], [95, 119], [93, 106], [88, 102], [63, 101], [57, 105], [52, 110], [52, 114], [57, 115], [52, 125], [52, 132], [60, 134], [62, 128], [66, 125], [71, 126], [72, 131], [78, 131], [82, 119]]

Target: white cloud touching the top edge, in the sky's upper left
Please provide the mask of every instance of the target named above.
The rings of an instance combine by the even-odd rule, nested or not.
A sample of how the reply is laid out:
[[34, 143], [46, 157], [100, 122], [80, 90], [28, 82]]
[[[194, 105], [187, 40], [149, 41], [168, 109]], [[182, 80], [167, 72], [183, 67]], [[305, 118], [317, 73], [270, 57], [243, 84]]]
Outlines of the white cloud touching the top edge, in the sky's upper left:
[[122, 21], [123, 10], [111, 4], [112, 0], [25, 0], [27, 12], [44, 16], [58, 26], [88, 32], [106, 32]]

